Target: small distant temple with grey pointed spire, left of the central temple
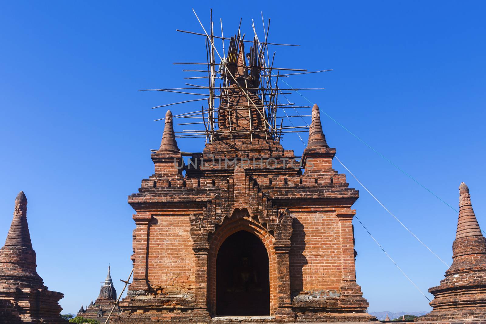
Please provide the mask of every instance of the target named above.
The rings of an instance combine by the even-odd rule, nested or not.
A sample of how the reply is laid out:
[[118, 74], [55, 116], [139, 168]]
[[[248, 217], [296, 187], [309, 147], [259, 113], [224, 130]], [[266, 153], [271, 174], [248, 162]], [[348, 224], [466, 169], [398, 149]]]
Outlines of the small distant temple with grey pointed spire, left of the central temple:
[[[93, 300], [91, 300], [91, 303], [89, 303], [86, 308], [81, 305], [81, 308], [79, 309], [76, 316], [81, 316], [88, 319], [95, 319], [101, 324], [104, 324], [108, 319], [108, 315], [110, 314], [111, 309], [113, 308], [113, 304], [116, 302], [116, 300], [117, 291], [113, 286], [110, 266], [108, 266], [108, 274], [106, 275], [106, 279], [104, 279], [104, 283], [101, 285], [98, 298], [96, 298], [96, 301], [94, 303]], [[119, 312], [119, 307], [115, 307], [115, 309], [113, 310], [113, 315], [116, 315]]]

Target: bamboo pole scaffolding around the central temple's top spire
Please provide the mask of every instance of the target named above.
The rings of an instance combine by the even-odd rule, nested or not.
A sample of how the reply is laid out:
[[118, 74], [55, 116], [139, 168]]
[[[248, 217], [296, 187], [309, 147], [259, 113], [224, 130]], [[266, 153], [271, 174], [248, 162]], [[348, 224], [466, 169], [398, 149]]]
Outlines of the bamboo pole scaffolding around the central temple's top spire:
[[[204, 34], [202, 33], [193, 33], [187, 31], [180, 31], [189, 34], [196, 34], [205, 36], [206, 42], [206, 54], [207, 54], [207, 62], [206, 63], [199, 63], [199, 62], [187, 62], [187, 63], [179, 63], [176, 62], [174, 65], [206, 65], [207, 69], [198, 69], [198, 68], [187, 68], [183, 69], [183, 72], [204, 72], [207, 73], [206, 76], [193, 74], [187, 77], [184, 77], [185, 80], [197, 80], [197, 79], [208, 79], [207, 85], [194, 85], [185, 83], [186, 87], [180, 88], [160, 88], [160, 89], [144, 89], [139, 91], [165, 91], [171, 93], [180, 93], [184, 95], [195, 95], [201, 96], [204, 98], [194, 99], [194, 100], [187, 100], [181, 102], [173, 102], [168, 103], [160, 106], [156, 106], [153, 108], [158, 107], [165, 107], [170, 105], [176, 105], [180, 103], [187, 103], [187, 102], [196, 102], [196, 101], [203, 101], [207, 100], [208, 106], [205, 108], [204, 104], [200, 110], [186, 112], [178, 115], [174, 115], [175, 118], [186, 118], [190, 119], [181, 123], [177, 123], [178, 126], [184, 125], [203, 125], [204, 129], [201, 130], [182, 130], [181, 132], [175, 132], [175, 137], [177, 138], [206, 138], [206, 143], [212, 143], [214, 136], [224, 135], [229, 136], [229, 139], [232, 140], [233, 136], [236, 134], [249, 134], [250, 140], [254, 139], [254, 134], [264, 134], [264, 138], [267, 139], [268, 135], [270, 138], [274, 140], [280, 140], [282, 136], [288, 133], [300, 133], [300, 132], [307, 132], [308, 126], [290, 126], [290, 125], [283, 125], [283, 119], [291, 119], [291, 118], [301, 118], [304, 117], [311, 117], [311, 115], [302, 115], [297, 112], [297, 108], [310, 108], [310, 106], [297, 106], [295, 103], [291, 103], [286, 95], [291, 95], [295, 91], [300, 90], [321, 90], [325, 88], [280, 88], [278, 86], [279, 82], [278, 79], [282, 77], [290, 77], [293, 75], [300, 75], [300, 74], [311, 74], [311, 73], [320, 73], [328, 70], [319, 70], [319, 71], [308, 71], [307, 69], [297, 69], [297, 68], [275, 68], [275, 55], [271, 57], [269, 55], [268, 45], [289, 45], [295, 46], [292, 44], [276, 44], [268, 42], [269, 31], [270, 31], [270, 19], [268, 19], [268, 25], [265, 26], [263, 13], [261, 13], [262, 25], [263, 25], [263, 34], [264, 38], [260, 39], [257, 34], [255, 21], [251, 21], [251, 28], [254, 33], [253, 40], [245, 39], [245, 34], [241, 31], [241, 24], [242, 20], [240, 20], [240, 24], [238, 27], [238, 32], [231, 37], [225, 37], [223, 31], [223, 21], [220, 19], [220, 27], [221, 27], [221, 36], [216, 36], [214, 34], [214, 22], [212, 20], [212, 10], [210, 11], [210, 19], [209, 19], [209, 28], [208, 30], [205, 29], [203, 23], [201, 22], [200, 18], [193, 10], [196, 19], [198, 20], [199, 24], [201, 25]], [[178, 30], [179, 31], [179, 30]], [[215, 40], [221, 39], [221, 46], [223, 48], [223, 57], [221, 57], [220, 52], [215, 46]], [[227, 43], [225, 44], [225, 40], [229, 40], [229, 47], [226, 48]], [[238, 57], [239, 57], [239, 49], [240, 44], [243, 43], [253, 43], [250, 47], [250, 50], [247, 51], [246, 58], [243, 57], [243, 65], [238, 64]], [[228, 55], [226, 55], [226, 51], [228, 51]], [[231, 54], [231, 55], [230, 55]], [[219, 57], [220, 62], [216, 63], [216, 56]], [[247, 60], [247, 63], [246, 63]], [[241, 68], [243, 67], [244, 73], [241, 73]], [[238, 68], [240, 68], [240, 73], [236, 73]], [[276, 73], [273, 73], [273, 70]], [[288, 72], [295, 72], [295, 73], [286, 73], [283, 72], [280, 74], [280, 71], [288, 71]], [[219, 73], [219, 74], [218, 74]], [[237, 81], [238, 78], [238, 81]], [[205, 83], [205, 82], [204, 82]], [[236, 86], [235, 86], [236, 85]], [[208, 90], [207, 94], [204, 93], [197, 93], [192, 92], [192, 90]], [[182, 90], [182, 91], [181, 91]], [[219, 92], [217, 91], [219, 90]], [[238, 92], [234, 92], [238, 90]], [[258, 96], [259, 100], [256, 100], [256, 96]], [[279, 95], [285, 96], [286, 103], [280, 103]], [[239, 99], [235, 99], [237, 105], [230, 106], [231, 98], [238, 98], [243, 97], [246, 98], [246, 102], [243, 105], [239, 104]], [[218, 104], [216, 100], [219, 100], [219, 107], [215, 105]], [[241, 99], [240, 99], [241, 100]], [[233, 101], [232, 101], [233, 102]], [[278, 109], [286, 109], [292, 108], [295, 110], [296, 114], [291, 116], [287, 115], [284, 110], [286, 116], [278, 116], [277, 112]], [[248, 121], [249, 124], [247, 127], [242, 129], [242, 126], [238, 126], [239, 129], [234, 129], [234, 111], [236, 114], [241, 115], [241, 109], [248, 110]], [[255, 115], [256, 114], [256, 115]], [[246, 112], [244, 113], [246, 115]], [[255, 117], [257, 116], [257, 117]], [[261, 116], [261, 119], [260, 117]], [[245, 117], [246, 118], [246, 117]], [[255, 118], [257, 118], [258, 122], [255, 122]], [[198, 119], [198, 120], [194, 120]], [[221, 122], [226, 119], [226, 129], [217, 129], [218, 128], [218, 120]], [[280, 119], [280, 125], [278, 126], [278, 120]], [[165, 118], [156, 119], [156, 120], [165, 120]], [[260, 120], [262, 123], [260, 123]], [[304, 119], [303, 119], [304, 120]], [[181, 120], [182, 121], [182, 120]], [[304, 120], [305, 122], [305, 120]], [[292, 122], [291, 122], [292, 123]], [[292, 123], [293, 124], [293, 123]], [[200, 127], [200, 126], [199, 126]], [[259, 137], [262, 138], [262, 137]]]

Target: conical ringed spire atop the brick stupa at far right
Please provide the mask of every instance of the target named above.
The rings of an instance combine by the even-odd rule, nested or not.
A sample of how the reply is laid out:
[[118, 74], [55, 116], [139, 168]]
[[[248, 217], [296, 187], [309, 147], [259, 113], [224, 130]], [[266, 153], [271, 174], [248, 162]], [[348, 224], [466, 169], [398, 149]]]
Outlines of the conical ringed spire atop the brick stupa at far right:
[[459, 186], [459, 219], [457, 221], [456, 239], [467, 236], [483, 236], [483, 234], [472, 209], [469, 188], [464, 182], [461, 182]]

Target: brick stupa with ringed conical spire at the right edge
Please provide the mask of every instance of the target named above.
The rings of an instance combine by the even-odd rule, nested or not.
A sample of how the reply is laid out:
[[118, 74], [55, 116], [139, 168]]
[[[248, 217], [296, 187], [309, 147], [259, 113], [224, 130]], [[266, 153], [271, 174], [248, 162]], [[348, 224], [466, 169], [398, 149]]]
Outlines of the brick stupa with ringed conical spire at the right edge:
[[429, 292], [434, 309], [417, 321], [486, 320], [486, 239], [471, 205], [469, 188], [459, 186], [459, 219], [452, 265]]

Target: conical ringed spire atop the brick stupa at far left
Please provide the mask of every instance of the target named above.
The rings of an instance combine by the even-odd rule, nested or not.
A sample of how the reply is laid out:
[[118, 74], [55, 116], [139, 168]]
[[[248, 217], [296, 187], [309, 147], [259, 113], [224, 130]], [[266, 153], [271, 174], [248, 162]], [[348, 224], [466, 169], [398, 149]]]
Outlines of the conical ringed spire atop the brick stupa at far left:
[[5, 246], [22, 246], [32, 249], [29, 225], [27, 224], [27, 197], [20, 191], [15, 198], [15, 210]]

